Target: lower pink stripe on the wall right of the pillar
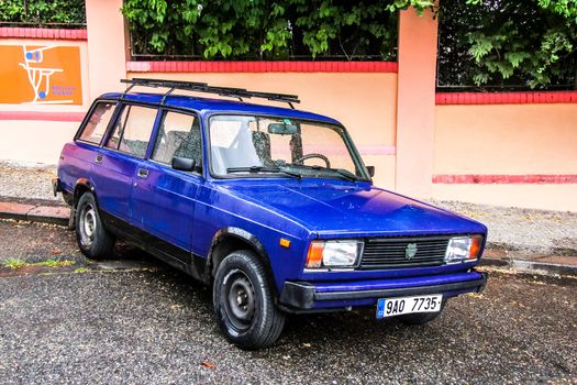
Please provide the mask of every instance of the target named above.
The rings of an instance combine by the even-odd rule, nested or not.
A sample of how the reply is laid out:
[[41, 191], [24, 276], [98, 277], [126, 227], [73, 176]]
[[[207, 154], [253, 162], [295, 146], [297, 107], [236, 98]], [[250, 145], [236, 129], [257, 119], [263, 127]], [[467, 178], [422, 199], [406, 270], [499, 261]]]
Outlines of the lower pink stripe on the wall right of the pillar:
[[577, 184], [577, 175], [434, 175], [433, 183], [444, 185], [567, 185]]

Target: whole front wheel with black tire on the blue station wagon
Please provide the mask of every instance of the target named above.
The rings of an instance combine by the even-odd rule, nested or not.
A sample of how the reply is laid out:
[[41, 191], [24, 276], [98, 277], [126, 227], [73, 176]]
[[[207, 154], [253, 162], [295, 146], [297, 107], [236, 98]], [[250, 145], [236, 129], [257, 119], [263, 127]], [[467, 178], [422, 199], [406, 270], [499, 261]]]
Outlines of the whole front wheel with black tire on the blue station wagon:
[[231, 342], [255, 350], [277, 341], [285, 314], [276, 307], [266, 270], [254, 253], [229, 254], [217, 270], [212, 294], [219, 326]]

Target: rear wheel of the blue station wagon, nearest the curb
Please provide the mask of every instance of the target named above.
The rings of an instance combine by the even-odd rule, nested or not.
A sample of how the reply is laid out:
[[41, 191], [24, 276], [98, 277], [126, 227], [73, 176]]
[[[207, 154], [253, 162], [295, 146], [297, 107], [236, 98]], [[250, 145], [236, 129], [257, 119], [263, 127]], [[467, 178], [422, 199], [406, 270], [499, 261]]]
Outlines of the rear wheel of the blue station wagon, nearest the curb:
[[91, 193], [82, 194], [76, 207], [76, 240], [82, 254], [93, 260], [110, 256], [116, 241], [104, 229]]

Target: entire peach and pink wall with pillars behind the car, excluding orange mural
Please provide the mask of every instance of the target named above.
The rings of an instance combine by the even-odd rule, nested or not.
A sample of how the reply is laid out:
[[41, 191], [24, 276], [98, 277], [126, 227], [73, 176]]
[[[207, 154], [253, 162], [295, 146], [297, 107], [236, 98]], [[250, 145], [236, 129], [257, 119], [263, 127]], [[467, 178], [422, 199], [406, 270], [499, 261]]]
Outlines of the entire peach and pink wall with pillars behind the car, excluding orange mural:
[[0, 44], [78, 46], [82, 74], [81, 105], [0, 105], [0, 160], [56, 163], [95, 97], [125, 76], [160, 77], [297, 94], [298, 108], [347, 127], [389, 189], [577, 211], [577, 91], [435, 95], [435, 19], [400, 13], [398, 65], [126, 62], [120, 4], [87, 0], [87, 31], [0, 29]]

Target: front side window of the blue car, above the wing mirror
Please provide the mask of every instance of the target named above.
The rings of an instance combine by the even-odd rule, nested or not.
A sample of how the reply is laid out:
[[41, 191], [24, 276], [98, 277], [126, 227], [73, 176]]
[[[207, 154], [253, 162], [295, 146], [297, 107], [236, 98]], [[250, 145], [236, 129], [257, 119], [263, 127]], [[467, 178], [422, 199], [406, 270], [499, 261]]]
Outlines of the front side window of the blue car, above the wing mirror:
[[167, 111], [158, 129], [152, 158], [170, 164], [174, 156], [195, 160], [202, 165], [200, 123], [196, 116]]

